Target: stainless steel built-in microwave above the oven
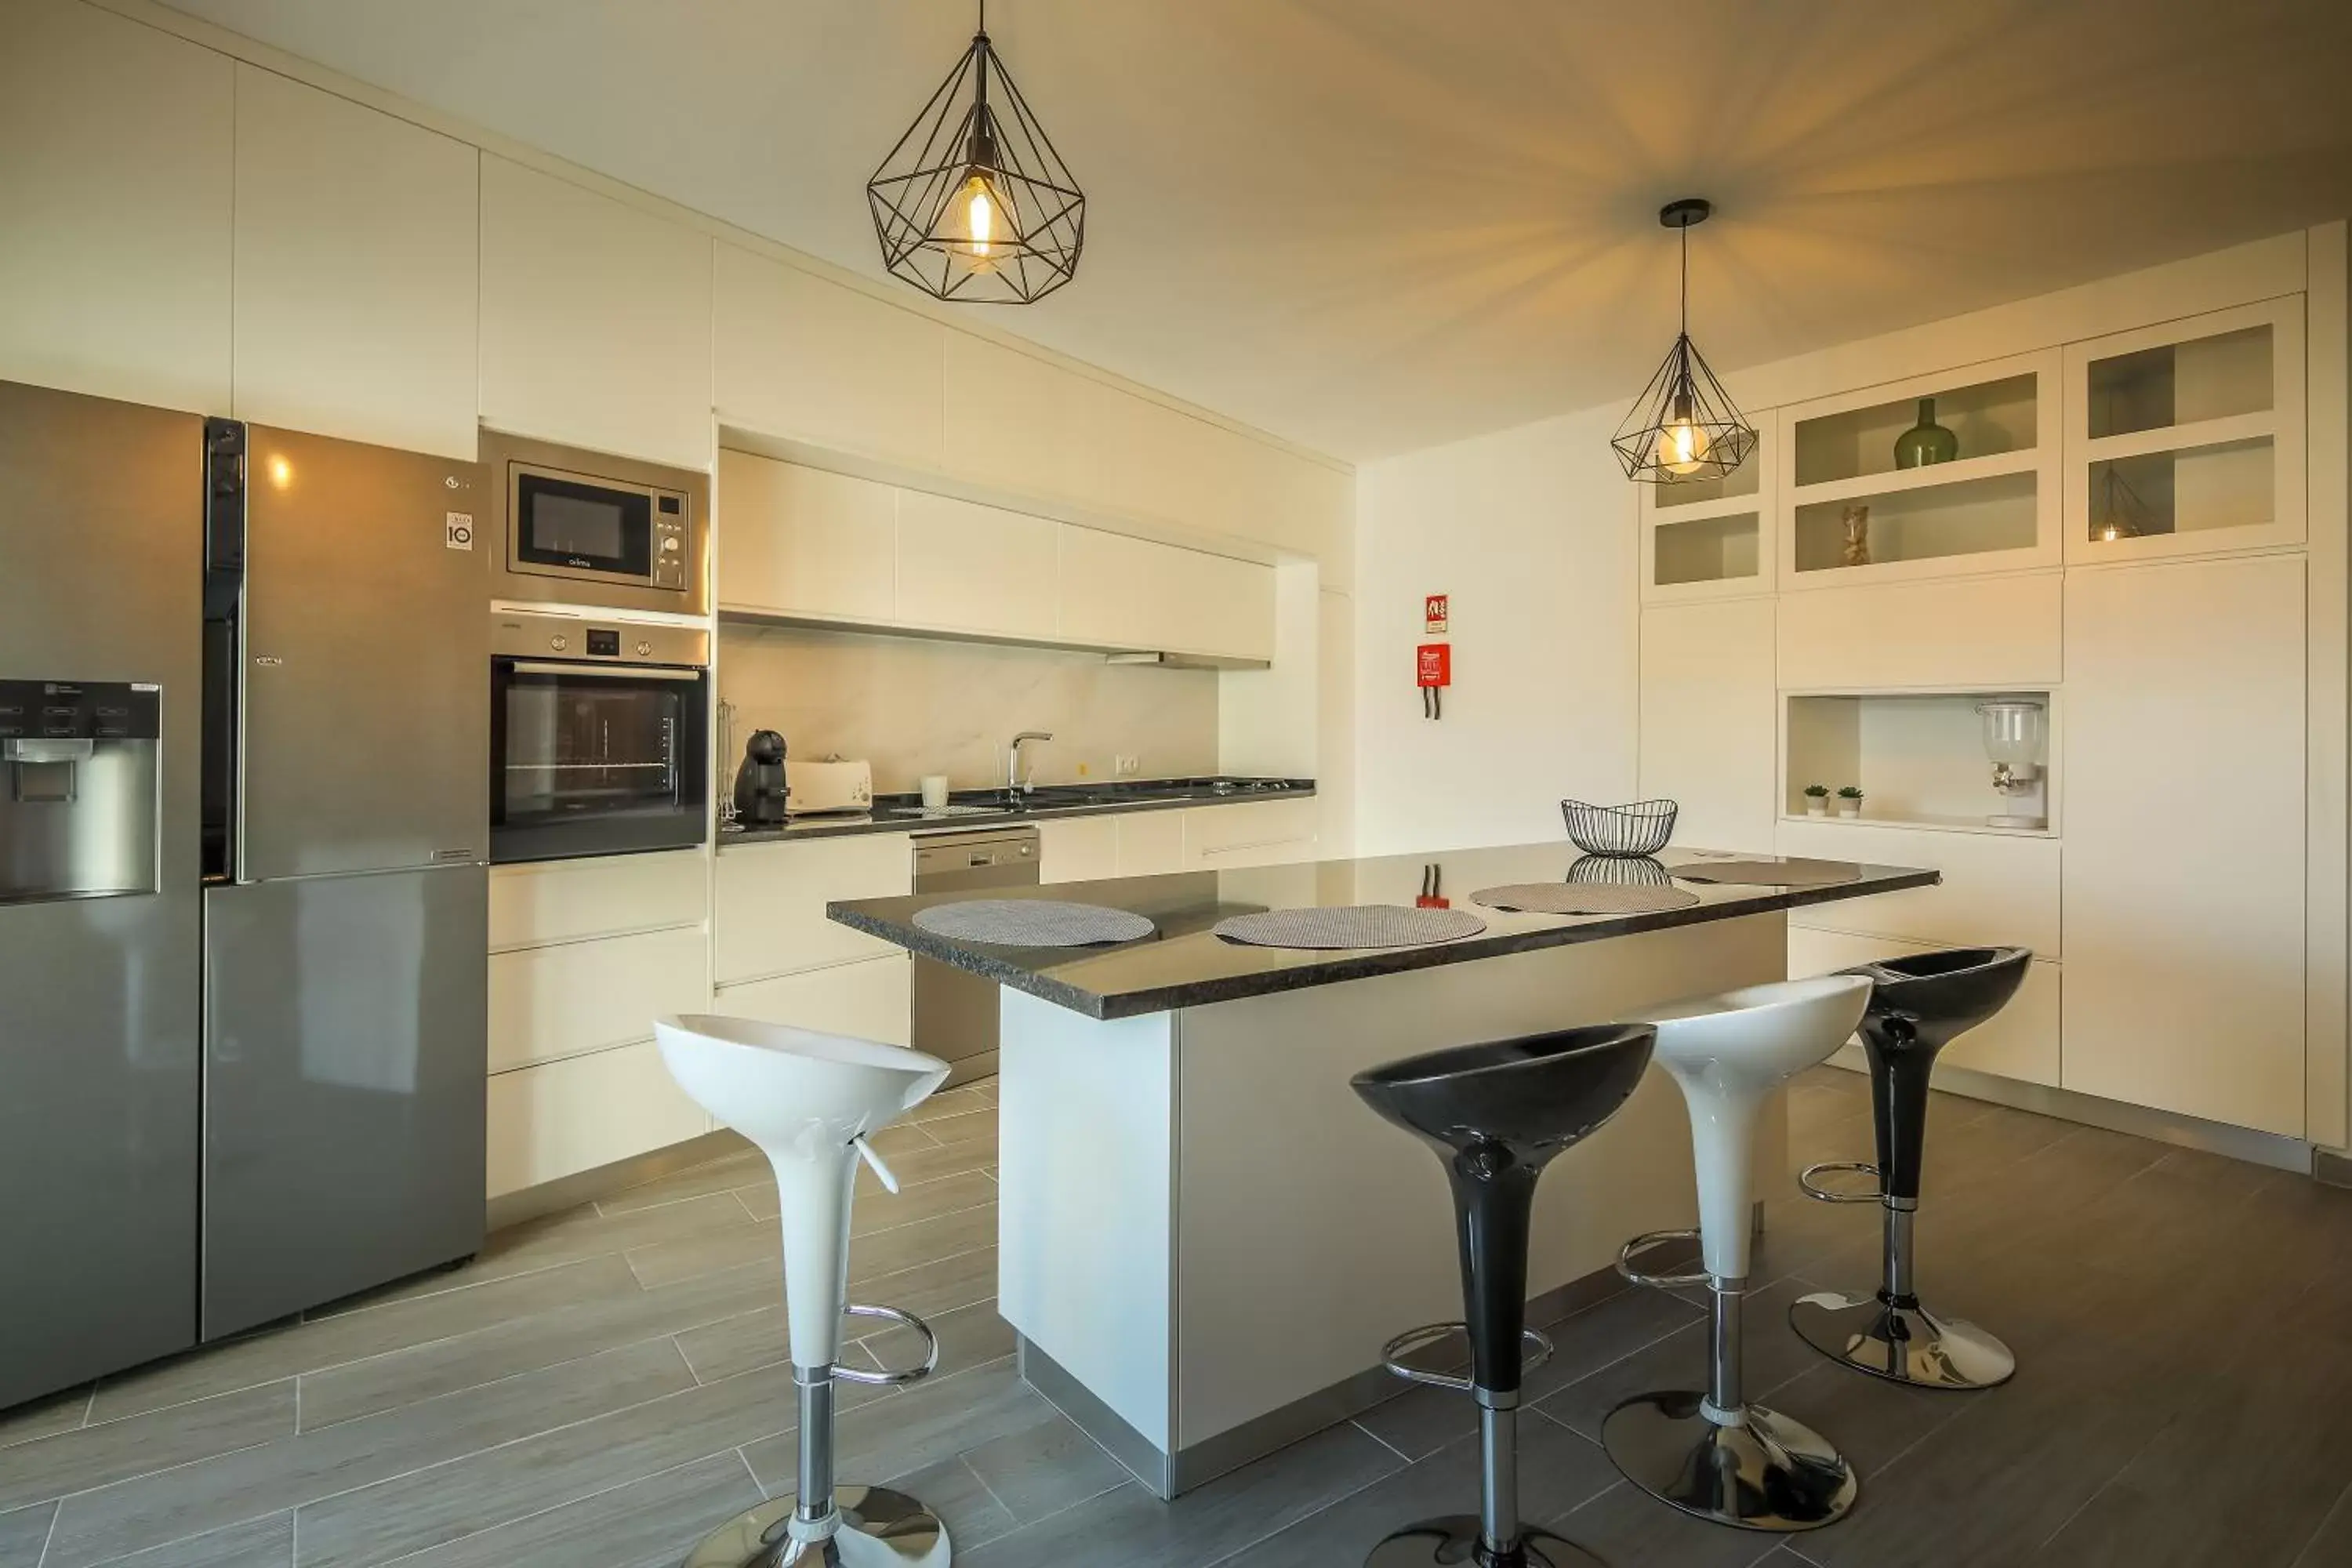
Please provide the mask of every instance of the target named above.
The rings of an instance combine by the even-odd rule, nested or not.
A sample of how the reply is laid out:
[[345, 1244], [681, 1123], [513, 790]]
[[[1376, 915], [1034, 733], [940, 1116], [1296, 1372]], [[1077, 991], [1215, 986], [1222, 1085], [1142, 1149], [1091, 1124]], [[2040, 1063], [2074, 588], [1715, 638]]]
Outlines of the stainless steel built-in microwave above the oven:
[[710, 611], [706, 475], [485, 433], [496, 599]]

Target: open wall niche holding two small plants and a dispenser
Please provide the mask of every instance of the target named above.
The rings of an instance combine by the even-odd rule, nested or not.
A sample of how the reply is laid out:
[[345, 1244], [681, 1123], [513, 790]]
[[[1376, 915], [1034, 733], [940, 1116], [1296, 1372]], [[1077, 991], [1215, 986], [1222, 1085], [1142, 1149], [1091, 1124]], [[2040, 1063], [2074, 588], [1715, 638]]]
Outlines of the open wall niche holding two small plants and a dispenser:
[[[2032, 703], [2042, 708], [2042, 745], [2034, 778], [2018, 773], [2018, 788], [1994, 788], [1994, 764], [1985, 748], [1983, 703]], [[1835, 790], [1863, 792], [1860, 820], [1898, 827], [1955, 832], [2011, 832], [2056, 837], [2058, 811], [2051, 773], [2051, 736], [2058, 705], [2051, 691], [1867, 691], [1809, 693], [1788, 698], [1785, 816], [1806, 813], [1806, 785], [1828, 785], [1828, 811], [1837, 816]], [[2016, 762], [2023, 762], [2016, 759]], [[2002, 825], [1992, 818], [2013, 818]], [[2032, 823], [2042, 825], [2034, 827]]]

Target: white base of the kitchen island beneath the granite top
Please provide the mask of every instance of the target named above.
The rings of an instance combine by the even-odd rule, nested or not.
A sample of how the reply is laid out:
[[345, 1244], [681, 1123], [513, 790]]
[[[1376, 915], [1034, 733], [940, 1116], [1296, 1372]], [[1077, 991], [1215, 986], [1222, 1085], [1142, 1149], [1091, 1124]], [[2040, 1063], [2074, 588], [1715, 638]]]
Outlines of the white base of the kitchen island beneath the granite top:
[[[1348, 1079], [1785, 964], [1783, 917], [1750, 914], [1141, 1018], [1004, 990], [997, 1295], [1023, 1375], [1162, 1497], [1402, 1392], [1381, 1347], [1463, 1314], [1454, 1206]], [[1759, 1194], [1785, 1164], [1776, 1105]], [[1529, 1295], [1597, 1300], [1628, 1237], [1696, 1215], [1682, 1095], [1651, 1067], [1548, 1168]]]

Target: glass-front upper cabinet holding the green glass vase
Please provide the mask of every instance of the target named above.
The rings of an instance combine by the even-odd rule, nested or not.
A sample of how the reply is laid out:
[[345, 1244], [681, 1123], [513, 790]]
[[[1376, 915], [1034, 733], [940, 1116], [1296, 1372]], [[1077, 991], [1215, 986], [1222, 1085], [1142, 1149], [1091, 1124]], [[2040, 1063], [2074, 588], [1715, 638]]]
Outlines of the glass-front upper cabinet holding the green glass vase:
[[2058, 369], [2053, 350], [1780, 409], [1780, 585], [2056, 564]]

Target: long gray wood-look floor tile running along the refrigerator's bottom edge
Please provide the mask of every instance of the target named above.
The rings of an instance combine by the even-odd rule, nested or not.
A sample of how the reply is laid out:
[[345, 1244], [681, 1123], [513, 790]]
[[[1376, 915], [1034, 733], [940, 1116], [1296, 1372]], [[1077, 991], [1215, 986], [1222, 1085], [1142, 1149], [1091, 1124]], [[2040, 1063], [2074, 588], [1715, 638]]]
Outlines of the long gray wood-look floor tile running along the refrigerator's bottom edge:
[[395, 1300], [367, 1312], [282, 1324], [122, 1378], [108, 1378], [92, 1401], [92, 1420], [160, 1410], [207, 1394], [318, 1373], [499, 1324], [529, 1321], [541, 1312], [586, 1300], [626, 1295], [637, 1295], [635, 1274], [621, 1258], [604, 1255], [536, 1274]]

